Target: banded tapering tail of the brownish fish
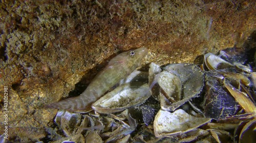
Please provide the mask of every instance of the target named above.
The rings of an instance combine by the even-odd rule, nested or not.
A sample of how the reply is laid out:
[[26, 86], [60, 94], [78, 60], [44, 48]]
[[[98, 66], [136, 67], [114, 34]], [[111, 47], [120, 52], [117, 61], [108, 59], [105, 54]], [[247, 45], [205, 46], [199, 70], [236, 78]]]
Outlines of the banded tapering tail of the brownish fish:
[[76, 111], [76, 112], [86, 112], [91, 109], [90, 100], [85, 101], [83, 96], [77, 96], [68, 98], [65, 100], [61, 100], [59, 102], [51, 103], [46, 108], [54, 108], [54, 109], [65, 109], [68, 111]]

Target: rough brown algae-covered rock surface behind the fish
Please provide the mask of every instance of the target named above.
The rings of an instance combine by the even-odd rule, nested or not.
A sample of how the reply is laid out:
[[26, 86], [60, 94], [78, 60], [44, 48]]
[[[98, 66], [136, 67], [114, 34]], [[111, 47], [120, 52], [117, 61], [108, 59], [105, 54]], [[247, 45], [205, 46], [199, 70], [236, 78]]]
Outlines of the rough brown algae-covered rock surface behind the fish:
[[[163, 65], [193, 63], [205, 52], [242, 47], [256, 29], [255, 3], [0, 3], [0, 100], [4, 111], [4, 86], [8, 86], [10, 139], [31, 142], [46, 137], [57, 110], [43, 107], [67, 98], [83, 75], [84, 84], [89, 84], [101, 69], [99, 64], [112, 54], [144, 46], [150, 53], [143, 65]], [[1, 116], [1, 125], [3, 121]]]

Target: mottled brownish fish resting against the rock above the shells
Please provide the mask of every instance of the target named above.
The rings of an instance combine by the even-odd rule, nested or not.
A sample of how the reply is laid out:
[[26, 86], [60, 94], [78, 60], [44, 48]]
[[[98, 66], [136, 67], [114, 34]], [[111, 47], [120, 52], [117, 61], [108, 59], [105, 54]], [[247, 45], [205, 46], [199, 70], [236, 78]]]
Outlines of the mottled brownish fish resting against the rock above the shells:
[[51, 103], [46, 107], [76, 112], [91, 110], [93, 102], [140, 66], [141, 60], [146, 56], [147, 52], [147, 48], [142, 47], [118, 54], [103, 71], [96, 75], [81, 95]]

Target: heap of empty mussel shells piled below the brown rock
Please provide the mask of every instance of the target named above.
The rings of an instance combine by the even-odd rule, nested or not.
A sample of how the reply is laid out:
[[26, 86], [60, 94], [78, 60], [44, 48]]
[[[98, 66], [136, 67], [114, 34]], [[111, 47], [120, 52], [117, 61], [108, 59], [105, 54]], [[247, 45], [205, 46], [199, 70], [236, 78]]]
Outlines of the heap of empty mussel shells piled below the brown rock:
[[151, 63], [94, 102], [93, 111], [59, 110], [51, 134], [55, 142], [255, 142], [252, 59], [228, 48], [204, 54], [202, 63]]

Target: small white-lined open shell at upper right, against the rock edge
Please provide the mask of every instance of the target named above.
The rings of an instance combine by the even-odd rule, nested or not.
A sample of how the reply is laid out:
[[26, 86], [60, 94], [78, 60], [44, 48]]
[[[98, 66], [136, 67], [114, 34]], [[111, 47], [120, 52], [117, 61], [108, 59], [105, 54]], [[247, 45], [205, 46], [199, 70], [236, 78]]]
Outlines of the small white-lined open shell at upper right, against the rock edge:
[[219, 56], [212, 54], [212, 53], [206, 53], [204, 55], [204, 64], [209, 70], [220, 70], [220, 69], [226, 69], [233, 67], [232, 64], [229, 62], [221, 59]]

